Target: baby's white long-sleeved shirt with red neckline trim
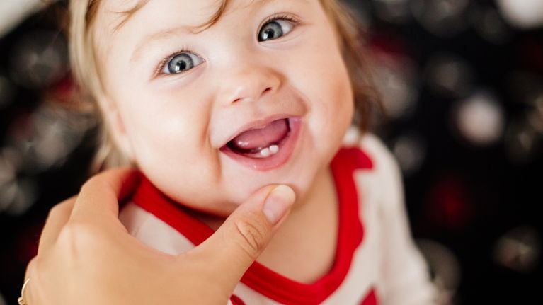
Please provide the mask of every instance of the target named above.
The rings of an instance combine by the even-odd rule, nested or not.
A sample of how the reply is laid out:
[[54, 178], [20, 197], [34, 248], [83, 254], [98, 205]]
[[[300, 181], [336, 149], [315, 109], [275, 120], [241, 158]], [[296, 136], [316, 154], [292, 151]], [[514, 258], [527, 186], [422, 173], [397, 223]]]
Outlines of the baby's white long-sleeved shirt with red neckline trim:
[[[331, 170], [339, 202], [331, 270], [304, 284], [255, 262], [229, 304], [433, 304], [433, 287], [411, 238], [401, 177], [389, 151], [366, 134], [338, 151]], [[170, 254], [188, 251], [213, 234], [146, 179], [120, 219], [142, 243]]]

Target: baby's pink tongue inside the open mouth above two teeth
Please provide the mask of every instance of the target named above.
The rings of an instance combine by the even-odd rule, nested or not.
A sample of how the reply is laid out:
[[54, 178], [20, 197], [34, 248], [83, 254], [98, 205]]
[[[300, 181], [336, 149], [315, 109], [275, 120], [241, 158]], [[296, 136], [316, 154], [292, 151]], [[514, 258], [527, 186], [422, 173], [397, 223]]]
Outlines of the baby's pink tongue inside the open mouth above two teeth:
[[232, 139], [230, 146], [241, 151], [262, 149], [277, 144], [288, 132], [287, 120], [276, 120], [265, 127], [242, 132]]

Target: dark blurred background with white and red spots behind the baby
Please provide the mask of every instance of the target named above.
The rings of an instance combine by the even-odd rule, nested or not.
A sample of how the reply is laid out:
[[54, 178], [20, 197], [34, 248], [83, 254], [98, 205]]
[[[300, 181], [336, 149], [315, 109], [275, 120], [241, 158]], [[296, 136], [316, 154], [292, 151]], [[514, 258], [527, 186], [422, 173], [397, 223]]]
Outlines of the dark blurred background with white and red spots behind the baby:
[[[0, 2], [0, 305], [47, 211], [88, 178], [66, 1]], [[543, 304], [543, 1], [350, 0], [440, 304]]]

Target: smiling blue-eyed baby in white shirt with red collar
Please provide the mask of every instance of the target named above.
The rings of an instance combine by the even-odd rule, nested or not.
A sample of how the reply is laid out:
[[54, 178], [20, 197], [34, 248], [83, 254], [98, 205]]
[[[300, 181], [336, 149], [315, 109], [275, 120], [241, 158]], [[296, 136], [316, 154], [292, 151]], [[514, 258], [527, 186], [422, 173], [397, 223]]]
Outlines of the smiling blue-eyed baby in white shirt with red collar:
[[431, 304], [396, 164], [364, 133], [372, 87], [337, 0], [72, 0], [71, 13], [74, 74], [103, 117], [98, 164], [142, 172], [120, 213], [132, 235], [182, 253], [259, 188], [289, 185], [290, 216], [232, 304]]

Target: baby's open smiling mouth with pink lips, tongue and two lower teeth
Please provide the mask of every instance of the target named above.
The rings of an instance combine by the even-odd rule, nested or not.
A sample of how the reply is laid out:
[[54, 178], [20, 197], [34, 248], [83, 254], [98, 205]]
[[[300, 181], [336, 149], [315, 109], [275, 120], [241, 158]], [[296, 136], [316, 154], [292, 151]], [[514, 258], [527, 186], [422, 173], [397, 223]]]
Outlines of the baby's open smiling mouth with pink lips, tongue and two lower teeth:
[[257, 170], [276, 168], [292, 154], [299, 125], [297, 118], [274, 120], [263, 127], [240, 132], [220, 150]]

